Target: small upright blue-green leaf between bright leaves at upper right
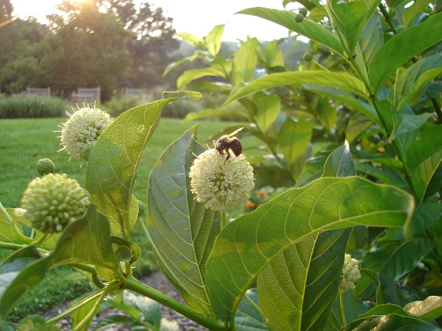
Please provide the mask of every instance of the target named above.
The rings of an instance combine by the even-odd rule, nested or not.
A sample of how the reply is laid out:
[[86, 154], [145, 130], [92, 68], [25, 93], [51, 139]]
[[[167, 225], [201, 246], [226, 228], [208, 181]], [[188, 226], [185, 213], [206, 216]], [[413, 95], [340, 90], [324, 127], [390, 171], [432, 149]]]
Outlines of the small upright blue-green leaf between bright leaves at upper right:
[[378, 49], [383, 46], [383, 41], [381, 20], [377, 14], [374, 14], [367, 21], [359, 40], [365, 63], [368, 63]]

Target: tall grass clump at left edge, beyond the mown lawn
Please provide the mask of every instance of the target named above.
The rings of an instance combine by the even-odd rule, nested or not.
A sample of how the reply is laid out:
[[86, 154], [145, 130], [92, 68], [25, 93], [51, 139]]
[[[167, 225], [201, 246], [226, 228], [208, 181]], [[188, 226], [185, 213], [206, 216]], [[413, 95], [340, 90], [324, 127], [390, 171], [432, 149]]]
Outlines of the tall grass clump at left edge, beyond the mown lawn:
[[61, 117], [70, 108], [57, 97], [0, 97], [0, 119]]

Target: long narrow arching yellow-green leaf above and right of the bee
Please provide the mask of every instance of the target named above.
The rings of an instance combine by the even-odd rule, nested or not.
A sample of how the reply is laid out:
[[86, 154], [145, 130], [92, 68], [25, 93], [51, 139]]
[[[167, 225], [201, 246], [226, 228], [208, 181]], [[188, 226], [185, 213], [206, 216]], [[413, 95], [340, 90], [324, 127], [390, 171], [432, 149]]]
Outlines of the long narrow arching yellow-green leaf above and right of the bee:
[[328, 71], [279, 72], [255, 79], [247, 86], [233, 90], [229, 95], [229, 99], [224, 103], [224, 106], [232, 101], [267, 88], [275, 88], [276, 86], [303, 88], [305, 85], [340, 88], [347, 92], [359, 94], [362, 97], [366, 96], [363, 82], [350, 74]]

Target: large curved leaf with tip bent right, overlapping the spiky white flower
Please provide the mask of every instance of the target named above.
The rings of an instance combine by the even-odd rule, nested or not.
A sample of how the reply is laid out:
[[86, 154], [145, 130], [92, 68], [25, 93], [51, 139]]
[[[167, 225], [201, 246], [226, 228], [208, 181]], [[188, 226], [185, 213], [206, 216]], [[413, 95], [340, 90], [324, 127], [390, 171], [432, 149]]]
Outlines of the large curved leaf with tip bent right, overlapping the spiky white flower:
[[178, 92], [135, 107], [121, 114], [100, 135], [88, 161], [86, 190], [99, 212], [111, 223], [114, 235], [122, 237], [138, 217], [133, 187], [142, 152], [160, 121], [162, 109], [177, 99], [199, 99], [200, 93]]

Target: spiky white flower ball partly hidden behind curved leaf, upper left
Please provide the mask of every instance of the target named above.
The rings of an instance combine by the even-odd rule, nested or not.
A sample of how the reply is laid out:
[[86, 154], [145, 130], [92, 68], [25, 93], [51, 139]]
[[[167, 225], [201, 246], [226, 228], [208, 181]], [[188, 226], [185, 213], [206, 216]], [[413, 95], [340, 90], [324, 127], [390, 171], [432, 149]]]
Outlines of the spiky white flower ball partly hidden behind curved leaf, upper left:
[[[74, 109], [73, 109], [74, 110]], [[73, 114], [66, 112], [70, 117], [61, 128], [61, 150], [77, 159], [83, 159], [83, 149], [90, 141], [96, 141], [100, 134], [106, 129], [113, 119], [108, 113], [99, 108], [84, 107]], [[59, 152], [61, 151], [59, 150]]]

